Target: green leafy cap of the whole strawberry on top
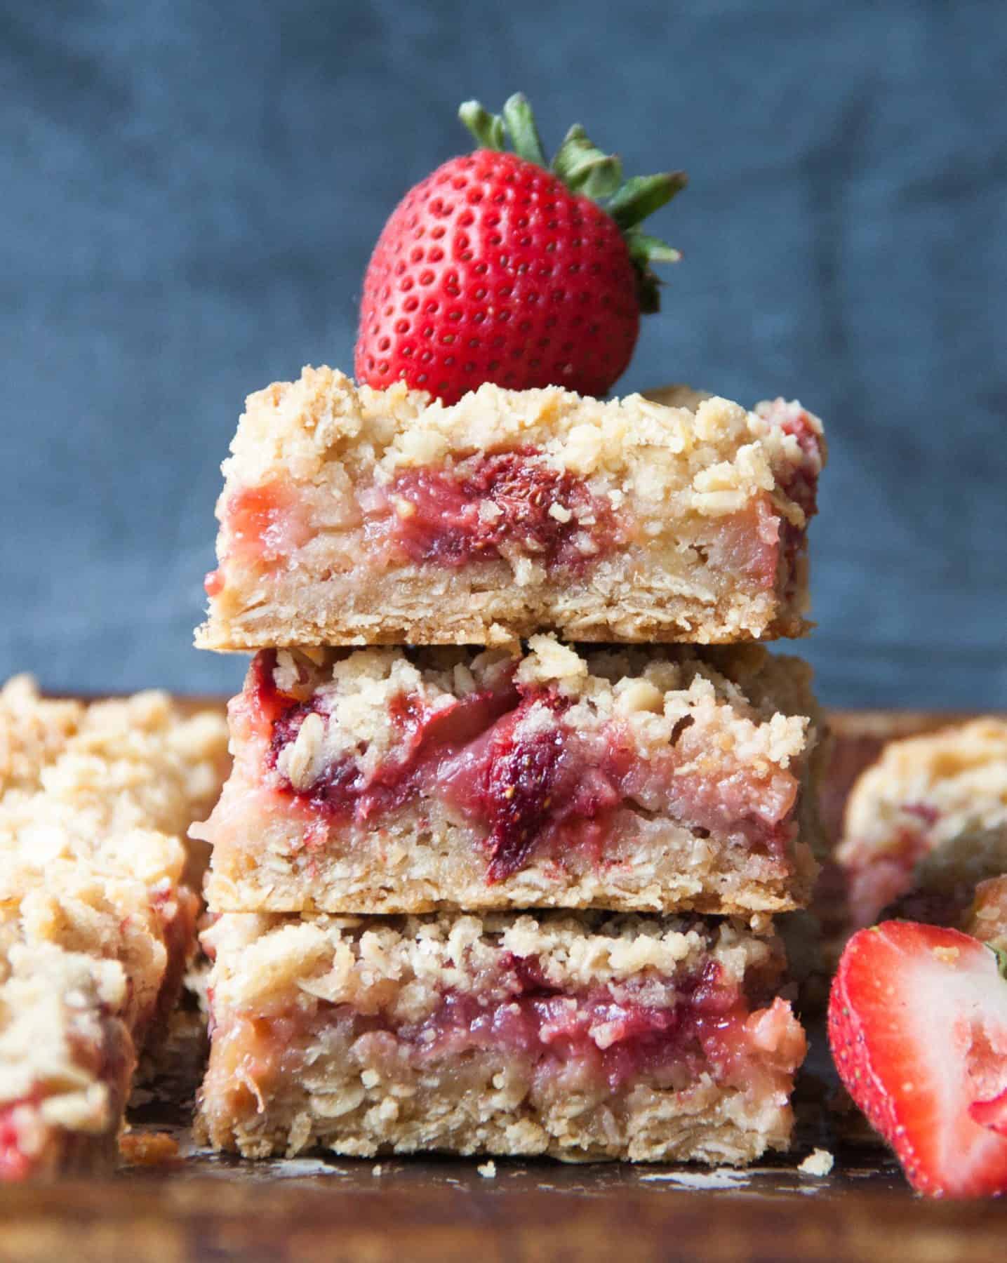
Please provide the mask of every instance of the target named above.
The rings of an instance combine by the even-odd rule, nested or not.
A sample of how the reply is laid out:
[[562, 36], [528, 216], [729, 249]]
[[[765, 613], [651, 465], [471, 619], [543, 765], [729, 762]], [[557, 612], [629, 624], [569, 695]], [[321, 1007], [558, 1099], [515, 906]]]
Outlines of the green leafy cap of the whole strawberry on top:
[[[475, 138], [480, 149], [503, 150], [508, 138], [514, 153], [537, 167], [548, 167], [538, 128], [528, 100], [516, 92], [507, 99], [503, 115], [490, 114], [479, 101], [465, 101], [459, 119]], [[689, 182], [684, 171], [657, 176], [632, 176], [623, 181], [623, 165], [617, 154], [606, 154], [576, 123], [564, 136], [550, 168], [566, 187], [601, 206], [619, 225], [629, 258], [637, 269], [637, 287], [642, 312], [656, 312], [661, 304], [661, 280], [652, 270], [654, 263], [677, 263], [678, 250], [660, 237], [639, 231], [639, 224], [680, 193]]]

